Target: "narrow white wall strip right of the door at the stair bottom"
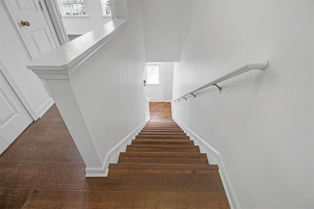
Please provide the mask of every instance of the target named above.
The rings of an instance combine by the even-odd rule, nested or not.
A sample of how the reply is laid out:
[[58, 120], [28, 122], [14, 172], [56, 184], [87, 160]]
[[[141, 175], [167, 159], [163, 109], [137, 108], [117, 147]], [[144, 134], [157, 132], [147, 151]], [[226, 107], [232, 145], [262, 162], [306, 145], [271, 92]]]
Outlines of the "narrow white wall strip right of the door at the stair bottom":
[[165, 71], [164, 71], [164, 101], [172, 100], [172, 78], [173, 78], [173, 62], [165, 62]]

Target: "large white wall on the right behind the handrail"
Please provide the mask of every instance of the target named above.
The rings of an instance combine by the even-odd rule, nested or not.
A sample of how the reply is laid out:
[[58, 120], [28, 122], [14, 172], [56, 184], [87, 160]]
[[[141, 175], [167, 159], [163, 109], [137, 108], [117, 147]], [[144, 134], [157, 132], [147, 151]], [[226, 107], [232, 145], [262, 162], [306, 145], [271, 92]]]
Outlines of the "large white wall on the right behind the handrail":
[[221, 153], [241, 208], [314, 208], [313, 1], [188, 1], [184, 14], [174, 98], [270, 64], [173, 103], [174, 117]]

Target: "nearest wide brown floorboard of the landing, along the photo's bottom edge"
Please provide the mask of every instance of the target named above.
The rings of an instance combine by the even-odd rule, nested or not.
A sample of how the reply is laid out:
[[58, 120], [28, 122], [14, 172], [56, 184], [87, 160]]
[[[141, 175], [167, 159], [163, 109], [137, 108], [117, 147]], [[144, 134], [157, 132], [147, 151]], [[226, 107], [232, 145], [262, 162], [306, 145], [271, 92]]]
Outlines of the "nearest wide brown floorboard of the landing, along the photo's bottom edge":
[[[25, 208], [225, 209], [222, 192], [47, 191], [38, 190]], [[57, 201], [55, 201], [57, 200]], [[210, 204], [209, 204], [210, 203]], [[223, 205], [225, 204], [225, 205]]]

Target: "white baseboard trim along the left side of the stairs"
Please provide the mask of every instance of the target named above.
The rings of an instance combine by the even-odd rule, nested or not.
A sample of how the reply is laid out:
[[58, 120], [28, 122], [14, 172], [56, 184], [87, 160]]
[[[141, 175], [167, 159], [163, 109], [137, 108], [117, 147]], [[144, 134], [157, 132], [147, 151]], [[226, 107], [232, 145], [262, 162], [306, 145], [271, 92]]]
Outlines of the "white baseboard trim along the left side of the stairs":
[[136, 129], [134, 129], [129, 135], [124, 137], [119, 143], [117, 143], [113, 148], [111, 148], [105, 155], [105, 160], [102, 167], [86, 167], [85, 177], [106, 177], [108, 175], [109, 163], [117, 163], [119, 159], [119, 154], [125, 152], [127, 145], [131, 144], [131, 140], [136, 136], [136, 134], [146, 125], [147, 122], [143, 122]]

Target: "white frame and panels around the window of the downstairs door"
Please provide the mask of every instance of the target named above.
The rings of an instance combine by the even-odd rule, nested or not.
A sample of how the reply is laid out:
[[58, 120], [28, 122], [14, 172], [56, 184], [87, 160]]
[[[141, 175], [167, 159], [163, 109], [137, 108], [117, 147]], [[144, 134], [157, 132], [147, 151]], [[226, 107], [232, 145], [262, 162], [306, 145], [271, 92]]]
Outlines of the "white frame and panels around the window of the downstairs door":
[[149, 62], [146, 66], [159, 66], [159, 83], [158, 84], [150, 84], [147, 82], [147, 67], [144, 72], [144, 94], [145, 98], [149, 98], [150, 102], [163, 102], [163, 62]]

